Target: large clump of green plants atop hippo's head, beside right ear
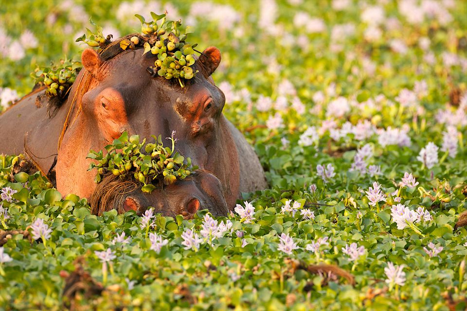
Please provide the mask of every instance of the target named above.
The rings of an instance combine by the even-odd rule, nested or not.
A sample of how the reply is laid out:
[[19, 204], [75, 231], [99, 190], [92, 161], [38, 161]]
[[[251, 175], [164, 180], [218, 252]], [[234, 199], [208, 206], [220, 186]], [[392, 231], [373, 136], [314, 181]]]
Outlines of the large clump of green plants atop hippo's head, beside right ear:
[[[167, 12], [166, 12], [167, 13]], [[151, 12], [153, 21], [147, 22], [143, 16], [136, 14], [135, 16], [141, 21], [142, 35], [141, 42], [139, 38], [132, 37], [128, 42], [123, 42], [124, 46], [129, 46], [131, 43], [143, 44], [144, 54], [151, 52], [157, 55], [157, 60], [154, 62], [154, 67], [149, 67], [148, 71], [153, 75], [165, 77], [165, 79], [177, 79], [180, 86], [185, 87], [184, 80], [189, 80], [195, 77], [193, 64], [195, 64], [194, 48], [197, 44], [186, 42], [187, 35], [191, 33], [190, 27], [186, 27], [181, 31], [181, 20], [172, 21], [166, 19], [166, 13], [157, 15]], [[136, 40], [136, 39], [138, 40]], [[135, 43], [138, 42], [138, 43]], [[122, 46], [122, 49], [126, 47]]]

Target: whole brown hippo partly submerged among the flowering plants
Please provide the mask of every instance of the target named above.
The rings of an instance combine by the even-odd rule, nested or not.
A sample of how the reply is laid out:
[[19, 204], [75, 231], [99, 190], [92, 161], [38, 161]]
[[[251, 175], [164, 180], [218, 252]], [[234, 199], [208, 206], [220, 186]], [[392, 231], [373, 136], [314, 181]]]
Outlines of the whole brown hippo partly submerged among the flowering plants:
[[[241, 192], [266, 188], [253, 149], [222, 114], [225, 97], [211, 78], [221, 60], [218, 49], [202, 52], [194, 65], [199, 72], [181, 88], [148, 74], [154, 64], [151, 53], [138, 48], [122, 51], [118, 42], [99, 54], [84, 50], [84, 69], [63, 104], [36, 105], [45, 92], [37, 88], [6, 110], [0, 116], [0, 152], [28, 155], [42, 173], [56, 180], [61, 193], [92, 198], [95, 213], [103, 210], [99, 205], [105, 201], [105, 209], [131, 208], [139, 214], [154, 206], [166, 215], [190, 217], [198, 208], [226, 215]], [[173, 130], [177, 150], [198, 165], [198, 173], [151, 194], [134, 187], [112, 197], [112, 188], [105, 185], [119, 181], [111, 178], [96, 191], [95, 172], [88, 171], [92, 160], [86, 158], [90, 149], [104, 149], [125, 131], [150, 141], [152, 134], [168, 137]]]

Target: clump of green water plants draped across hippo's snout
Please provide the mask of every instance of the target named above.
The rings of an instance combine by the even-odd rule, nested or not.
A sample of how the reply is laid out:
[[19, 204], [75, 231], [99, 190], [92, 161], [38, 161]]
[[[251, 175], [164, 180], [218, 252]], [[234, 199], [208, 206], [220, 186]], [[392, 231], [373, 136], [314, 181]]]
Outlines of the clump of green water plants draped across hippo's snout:
[[141, 190], [150, 193], [160, 182], [170, 185], [176, 182], [177, 178], [186, 178], [198, 167], [192, 166], [189, 157], [185, 161], [185, 157], [175, 151], [177, 139], [174, 135], [175, 131], [167, 138], [171, 140], [172, 146], [164, 147], [161, 135], [153, 135], [155, 142], [146, 143], [146, 139], [140, 142], [139, 135], [128, 137], [128, 133], [124, 132], [120, 138], [105, 147], [106, 155], [102, 150], [90, 150], [87, 157], [98, 161], [97, 164], [91, 163], [89, 167], [89, 170], [97, 170], [94, 181], [99, 183], [102, 176], [107, 174], [122, 178], [132, 174], [144, 184]]

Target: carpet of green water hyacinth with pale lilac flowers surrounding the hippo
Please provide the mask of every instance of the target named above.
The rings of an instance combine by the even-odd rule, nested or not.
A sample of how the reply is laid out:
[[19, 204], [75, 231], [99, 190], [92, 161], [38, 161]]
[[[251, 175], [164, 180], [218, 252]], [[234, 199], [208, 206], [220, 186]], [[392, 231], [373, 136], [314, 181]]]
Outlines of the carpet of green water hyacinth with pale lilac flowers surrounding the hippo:
[[[241, 194], [227, 217], [198, 210], [186, 220], [156, 209], [95, 216], [86, 199], [59, 193], [34, 168], [20, 172], [27, 155], [0, 155], [0, 309], [66, 310], [67, 300], [93, 310], [467, 308], [466, 1], [98, 2], [2, 2], [0, 112], [31, 91], [27, 73], [38, 64], [79, 59], [89, 45], [74, 38], [91, 16], [102, 28], [90, 27], [85, 42], [99, 52], [133, 34], [123, 43], [133, 53], [147, 40], [150, 74], [165, 79], [162, 67], [181, 66], [182, 56], [192, 62], [184, 45], [180, 57], [180, 44], [167, 52], [177, 41], [167, 21], [182, 18], [196, 26], [185, 44], [221, 51], [213, 79], [223, 114], [254, 146], [269, 188]], [[150, 14], [164, 9], [169, 29]], [[161, 47], [151, 41], [154, 23], [152, 33], [140, 28], [153, 20], [165, 30]], [[174, 58], [166, 64], [156, 63], [162, 43]], [[183, 92], [199, 74], [180, 79]], [[101, 180], [105, 171], [140, 183], [135, 173], [150, 154], [129, 140], [126, 155], [143, 158], [139, 168], [131, 162], [124, 171], [130, 157], [117, 149], [93, 169]], [[172, 150], [170, 139], [161, 142]], [[148, 190], [164, 185], [164, 171], [181, 178], [178, 165], [188, 164], [168, 163], [156, 179], [153, 167], [143, 174]], [[33, 239], [37, 219], [52, 230], [47, 248]], [[104, 262], [95, 252], [105, 252]], [[326, 264], [334, 270], [310, 272]], [[89, 275], [74, 285], [100, 284], [100, 292], [66, 296], [73, 284], [62, 272]]]

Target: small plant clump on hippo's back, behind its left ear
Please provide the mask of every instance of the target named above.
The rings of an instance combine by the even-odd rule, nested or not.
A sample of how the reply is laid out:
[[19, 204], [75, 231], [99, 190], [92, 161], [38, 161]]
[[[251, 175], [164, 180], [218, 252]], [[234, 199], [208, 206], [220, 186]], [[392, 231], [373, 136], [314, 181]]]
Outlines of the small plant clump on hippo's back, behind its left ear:
[[48, 86], [47, 96], [64, 99], [81, 67], [80, 62], [62, 59], [59, 63], [51, 63], [50, 67], [37, 67], [31, 76], [36, 84]]

